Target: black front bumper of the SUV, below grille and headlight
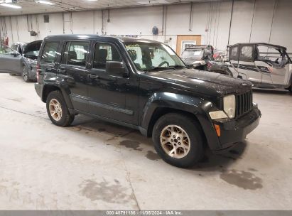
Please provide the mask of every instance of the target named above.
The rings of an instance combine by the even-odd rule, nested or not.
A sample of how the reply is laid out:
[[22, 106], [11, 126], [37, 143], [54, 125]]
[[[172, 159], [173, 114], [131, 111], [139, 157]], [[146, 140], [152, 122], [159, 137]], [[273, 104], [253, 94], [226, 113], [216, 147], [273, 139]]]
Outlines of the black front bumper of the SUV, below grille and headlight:
[[220, 147], [212, 149], [220, 151], [233, 146], [233, 144], [244, 141], [247, 134], [252, 132], [259, 125], [261, 111], [254, 106], [253, 109], [239, 119], [229, 119], [228, 121], [213, 121], [213, 124], [220, 126], [221, 134], [218, 136]]

